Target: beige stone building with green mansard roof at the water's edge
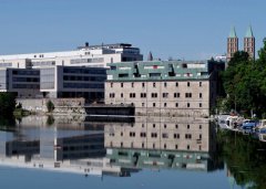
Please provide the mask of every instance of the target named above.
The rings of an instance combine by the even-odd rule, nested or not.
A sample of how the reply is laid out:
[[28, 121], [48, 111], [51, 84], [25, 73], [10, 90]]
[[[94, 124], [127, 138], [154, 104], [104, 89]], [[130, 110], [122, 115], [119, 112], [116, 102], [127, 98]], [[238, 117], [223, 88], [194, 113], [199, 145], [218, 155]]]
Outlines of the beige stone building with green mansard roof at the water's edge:
[[132, 104], [136, 115], [208, 116], [216, 98], [214, 61], [109, 64], [105, 104]]

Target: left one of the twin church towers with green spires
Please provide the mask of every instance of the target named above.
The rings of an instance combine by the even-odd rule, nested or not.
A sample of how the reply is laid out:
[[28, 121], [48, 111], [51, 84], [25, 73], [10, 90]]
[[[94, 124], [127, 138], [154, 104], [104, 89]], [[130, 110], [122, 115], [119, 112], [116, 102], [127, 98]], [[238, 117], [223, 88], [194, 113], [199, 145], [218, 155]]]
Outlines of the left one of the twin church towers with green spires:
[[238, 51], [238, 38], [236, 36], [235, 28], [233, 27], [227, 38], [227, 56], [226, 60], [229, 61], [234, 53]]

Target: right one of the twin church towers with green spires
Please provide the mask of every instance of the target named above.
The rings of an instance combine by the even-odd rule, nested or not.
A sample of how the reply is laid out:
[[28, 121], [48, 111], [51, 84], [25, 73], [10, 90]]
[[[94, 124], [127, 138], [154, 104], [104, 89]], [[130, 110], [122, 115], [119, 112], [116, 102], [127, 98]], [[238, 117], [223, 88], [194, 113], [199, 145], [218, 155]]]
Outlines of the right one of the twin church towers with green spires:
[[255, 60], [255, 38], [252, 27], [249, 25], [244, 38], [244, 51], [248, 53], [252, 60]]

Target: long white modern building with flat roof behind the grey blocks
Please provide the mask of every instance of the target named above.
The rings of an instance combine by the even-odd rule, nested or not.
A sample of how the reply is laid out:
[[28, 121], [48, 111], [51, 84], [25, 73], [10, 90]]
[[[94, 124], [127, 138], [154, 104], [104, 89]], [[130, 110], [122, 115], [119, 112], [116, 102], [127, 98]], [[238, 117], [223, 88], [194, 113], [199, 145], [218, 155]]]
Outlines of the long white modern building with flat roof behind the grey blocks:
[[49, 65], [106, 67], [106, 63], [142, 61], [139, 48], [127, 43], [79, 46], [73, 51], [0, 55], [2, 67], [42, 67]]

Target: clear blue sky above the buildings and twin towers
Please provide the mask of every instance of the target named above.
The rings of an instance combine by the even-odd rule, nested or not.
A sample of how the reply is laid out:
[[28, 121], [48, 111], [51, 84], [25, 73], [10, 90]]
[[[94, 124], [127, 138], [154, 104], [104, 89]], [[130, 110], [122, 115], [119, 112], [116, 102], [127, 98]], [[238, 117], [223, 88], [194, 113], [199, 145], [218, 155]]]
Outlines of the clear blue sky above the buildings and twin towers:
[[0, 0], [0, 54], [65, 51], [127, 42], [145, 59], [200, 60], [226, 52], [235, 25], [266, 36], [264, 0]]

